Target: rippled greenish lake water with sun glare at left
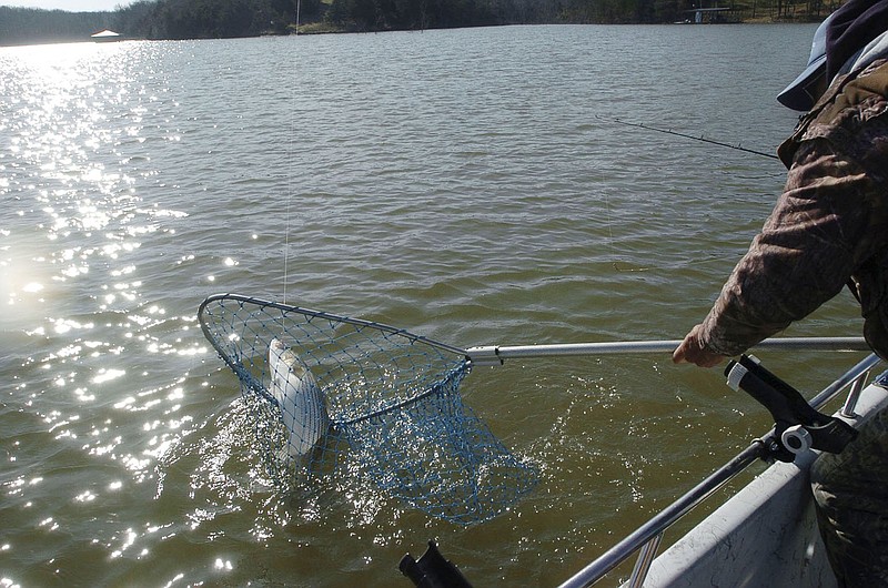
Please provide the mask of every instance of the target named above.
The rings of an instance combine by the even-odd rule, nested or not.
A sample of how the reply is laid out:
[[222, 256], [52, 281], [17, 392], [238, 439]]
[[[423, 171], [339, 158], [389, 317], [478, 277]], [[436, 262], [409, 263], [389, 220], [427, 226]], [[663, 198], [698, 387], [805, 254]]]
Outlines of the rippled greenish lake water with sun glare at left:
[[[568, 578], [764, 408], [668, 355], [476, 368], [465, 402], [539, 468], [528, 497], [470, 527], [373, 493], [306, 508], [263, 483], [198, 306], [238, 292], [462, 347], [680, 338], [785, 171], [613, 119], [774, 152], [813, 32], [0, 49], [0, 582], [408, 586], [401, 556], [433, 538], [476, 586]], [[787, 335], [858, 335], [857, 314], [842, 294]], [[808, 393], [859, 358], [758, 355]]]

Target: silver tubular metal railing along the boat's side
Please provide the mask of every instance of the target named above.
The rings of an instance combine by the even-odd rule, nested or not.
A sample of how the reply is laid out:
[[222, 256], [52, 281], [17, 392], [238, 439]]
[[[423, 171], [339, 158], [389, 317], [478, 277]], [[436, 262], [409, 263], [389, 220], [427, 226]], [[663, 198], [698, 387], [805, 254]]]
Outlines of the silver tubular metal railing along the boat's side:
[[[819, 409], [829, 401], [838, 396], [841, 391], [850, 386], [848, 397], [839, 414], [842, 416], [852, 416], [855, 404], [857, 403], [860, 392], [866, 385], [868, 374], [870, 369], [872, 369], [872, 367], [879, 363], [879, 361], [880, 359], [876, 354], [869, 355], [864, 361], [855, 365], [851, 369], [846, 372], [841, 377], [836, 379], [833, 384], [824, 388], [820, 394], [810, 401], [810, 405], [815, 409]], [[588, 566], [562, 584], [562, 588], [592, 586], [604, 578], [604, 576], [606, 576], [618, 565], [629, 559], [636, 551], [638, 552], [638, 557], [636, 559], [635, 567], [633, 568], [632, 576], [626, 585], [629, 588], [640, 588], [650, 569], [650, 564], [656, 557], [657, 549], [659, 548], [666, 529], [688, 514], [693, 508], [703, 503], [706, 498], [712, 496], [731, 478], [740, 474], [750, 464], [758, 459], [767, 458], [767, 456], [774, 450], [776, 444], [777, 439], [775, 437], [775, 429], [771, 429], [767, 435], [755, 439], [749, 447], [737, 454], [736, 457], [710, 474], [706, 479], [692, 488], [687, 494], [663, 509], [659, 514], [638, 527], [625, 539], [605, 551], [596, 560], [592, 561]]]

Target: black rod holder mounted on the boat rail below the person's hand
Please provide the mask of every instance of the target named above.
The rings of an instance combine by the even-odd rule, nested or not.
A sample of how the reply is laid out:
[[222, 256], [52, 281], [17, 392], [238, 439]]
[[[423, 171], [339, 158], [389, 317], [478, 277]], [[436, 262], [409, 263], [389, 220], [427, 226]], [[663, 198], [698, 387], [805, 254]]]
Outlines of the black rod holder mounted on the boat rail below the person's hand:
[[765, 369], [755, 356], [740, 356], [725, 369], [728, 386], [743, 389], [774, 417], [777, 443], [770, 457], [793, 462], [797, 454], [819, 449], [841, 453], [857, 430], [840, 418], [817, 412], [793, 386]]

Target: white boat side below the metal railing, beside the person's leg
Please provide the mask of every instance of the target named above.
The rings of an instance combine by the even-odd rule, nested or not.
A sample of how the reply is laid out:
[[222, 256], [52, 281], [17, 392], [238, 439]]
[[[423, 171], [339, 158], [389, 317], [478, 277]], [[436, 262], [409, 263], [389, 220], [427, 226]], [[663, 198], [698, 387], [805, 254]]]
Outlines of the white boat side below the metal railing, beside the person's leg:
[[[884, 386], [866, 386], [856, 417], [842, 418], [859, 427], [888, 406]], [[810, 493], [816, 457], [808, 450], [793, 464], [769, 466], [658, 556], [644, 587], [836, 587]]]

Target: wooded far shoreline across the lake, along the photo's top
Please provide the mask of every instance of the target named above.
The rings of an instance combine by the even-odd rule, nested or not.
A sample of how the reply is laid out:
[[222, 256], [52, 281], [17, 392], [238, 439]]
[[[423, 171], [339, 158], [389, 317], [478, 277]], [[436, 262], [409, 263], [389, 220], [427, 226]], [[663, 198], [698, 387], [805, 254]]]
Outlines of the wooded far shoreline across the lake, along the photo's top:
[[[113, 11], [0, 7], [0, 45], [82, 41], [103, 29], [130, 39], [218, 39], [547, 23], [664, 23], [700, 0], [139, 0]], [[722, 21], [818, 20], [841, 0], [730, 0]], [[704, 2], [708, 6], [709, 2]], [[724, 2], [722, 2], [724, 4]], [[712, 0], [712, 6], [718, 6]]]

